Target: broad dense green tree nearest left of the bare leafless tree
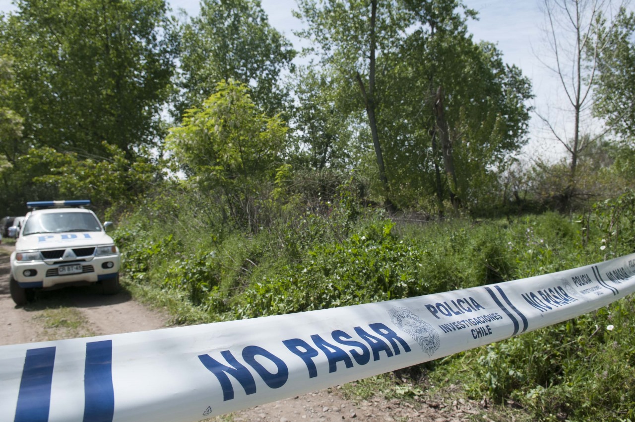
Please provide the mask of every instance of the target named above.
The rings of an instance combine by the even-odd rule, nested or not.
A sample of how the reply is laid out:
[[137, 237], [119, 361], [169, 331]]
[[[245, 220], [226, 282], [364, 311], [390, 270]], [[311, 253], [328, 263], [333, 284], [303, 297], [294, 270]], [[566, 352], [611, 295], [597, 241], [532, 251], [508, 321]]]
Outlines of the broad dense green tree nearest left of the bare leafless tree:
[[[497, 175], [527, 141], [530, 81], [505, 65], [490, 43], [476, 44], [464, 18], [454, 13], [418, 13], [425, 18], [394, 57], [380, 95], [401, 201], [434, 194], [443, 201], [487, 201]], [[441, 89], [439, 89], [441, 88]]]

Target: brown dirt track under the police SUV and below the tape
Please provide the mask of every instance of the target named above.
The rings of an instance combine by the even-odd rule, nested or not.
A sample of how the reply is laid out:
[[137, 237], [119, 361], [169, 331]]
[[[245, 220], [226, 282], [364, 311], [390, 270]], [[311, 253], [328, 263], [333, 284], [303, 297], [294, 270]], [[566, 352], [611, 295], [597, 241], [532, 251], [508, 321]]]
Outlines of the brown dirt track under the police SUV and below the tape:
[[[102, 296], [97, 287], [38, 292], [36, 301], [17, 307], [9, 292], [11, 245], [0, 244], [0, 346], [72, 337], [119, 334], [166, 327], [169, 316], [134, 301], [126, 290]], [[61, 316], [60, 316], [61, 315]], [[219, 416], [209, 421], [490, 421], [486, 402], [445, 397], [387, 400], [378, 391], [368, 400], [345, 398], [341, 387]], [[493, 416], [490, 414], [490, 416]], [[512, 418], [513, 419], [513, 418]]]

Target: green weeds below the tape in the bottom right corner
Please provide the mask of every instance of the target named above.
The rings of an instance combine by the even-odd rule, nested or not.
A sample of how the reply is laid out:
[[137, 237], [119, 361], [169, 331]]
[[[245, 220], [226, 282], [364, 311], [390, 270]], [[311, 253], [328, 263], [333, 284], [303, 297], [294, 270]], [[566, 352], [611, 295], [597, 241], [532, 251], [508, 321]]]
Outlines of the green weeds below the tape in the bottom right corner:
[[592, 314], [467, 351], [438, 367], [433, 379], [467, 369], [460, 381], [471, 397], [486, 393], [498, 402], [512, 400], [537, 421], [632, 420], [635, 341], [628, 327], [633, 311], [633, 299], [622, 299]]

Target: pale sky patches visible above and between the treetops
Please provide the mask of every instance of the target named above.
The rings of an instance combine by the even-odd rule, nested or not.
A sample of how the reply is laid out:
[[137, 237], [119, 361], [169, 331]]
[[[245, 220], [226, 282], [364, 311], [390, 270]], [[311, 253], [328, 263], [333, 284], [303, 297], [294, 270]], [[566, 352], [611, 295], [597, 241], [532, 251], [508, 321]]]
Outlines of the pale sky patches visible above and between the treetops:
[[[63, 0], [62, 0], [63, 1]], [[173, 10], [183, 8], [189, 16], [197, 15], [199, 0], [168, 0]], [[297, 10], [295, 0], [261, 0], [269, 15], [269, 23], [282, 32], [299, 49], [300, 40], [293, 31], [302, 28], [302, 22], [291, 15]], [[464, 0], [471, 9], [478, 11], [479, 20], [470, 20], [468, 29], [475, 41], [497, 44], [505, 63], [517, 65], [531, 79], [535, 99], [531, 105], [540, 114], [561, 116], [566, 109], [564, 92], [556, 75], [547, 69], [540, 57], [546, 57], [545, 34], [542, 28], [545, 16], [540, 9], [542, 0]], [[0, 11], [15, 10], [11, 0], [0, 0]], [[530, 144], [523, 154], [557, 160], [565, 152], [554, 140], [535, 113], [530, 122]]]

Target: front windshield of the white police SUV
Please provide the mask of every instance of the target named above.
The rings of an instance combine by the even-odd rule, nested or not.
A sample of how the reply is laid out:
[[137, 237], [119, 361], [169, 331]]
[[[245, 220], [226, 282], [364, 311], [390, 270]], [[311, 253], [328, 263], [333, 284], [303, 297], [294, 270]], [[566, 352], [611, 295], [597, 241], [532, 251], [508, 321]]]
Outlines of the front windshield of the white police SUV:
[[90, 212], [55, 212], [31, 215], [22, 236], [36, 233], [67, 233], [69, 231], [102, 231], [102, 225]]

